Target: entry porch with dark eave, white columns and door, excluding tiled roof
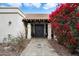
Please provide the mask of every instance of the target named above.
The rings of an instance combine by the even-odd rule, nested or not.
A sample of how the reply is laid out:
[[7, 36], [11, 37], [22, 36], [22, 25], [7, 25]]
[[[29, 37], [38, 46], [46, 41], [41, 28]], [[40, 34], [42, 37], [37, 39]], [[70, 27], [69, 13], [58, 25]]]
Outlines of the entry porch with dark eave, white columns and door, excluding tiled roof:
[[23, 19], [26, 38], [48, 38], [51, 39], [51, 23], [47, 19]]

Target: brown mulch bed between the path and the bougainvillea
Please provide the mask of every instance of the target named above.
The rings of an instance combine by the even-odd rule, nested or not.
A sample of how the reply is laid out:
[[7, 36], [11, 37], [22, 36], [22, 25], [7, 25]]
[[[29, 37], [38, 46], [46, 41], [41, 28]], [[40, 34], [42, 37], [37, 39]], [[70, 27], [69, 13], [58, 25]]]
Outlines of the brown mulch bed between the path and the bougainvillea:
[[52, 39], [52, 40], [48, 40], [48, 42], [60, 56], [71, 56], [69, 50], [64, 46], [58, 44], [57, 41]]

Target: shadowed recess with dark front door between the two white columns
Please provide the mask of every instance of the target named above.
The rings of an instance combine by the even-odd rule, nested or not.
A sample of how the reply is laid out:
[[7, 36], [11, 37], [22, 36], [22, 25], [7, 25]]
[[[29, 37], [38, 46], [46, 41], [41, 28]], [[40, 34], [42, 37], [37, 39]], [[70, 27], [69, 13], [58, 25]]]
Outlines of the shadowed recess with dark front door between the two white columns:
[[32, 23], [31, 24], [31, 36], [36, 38], [44, 38], [47, 36], [47, 24], [46, 23]]

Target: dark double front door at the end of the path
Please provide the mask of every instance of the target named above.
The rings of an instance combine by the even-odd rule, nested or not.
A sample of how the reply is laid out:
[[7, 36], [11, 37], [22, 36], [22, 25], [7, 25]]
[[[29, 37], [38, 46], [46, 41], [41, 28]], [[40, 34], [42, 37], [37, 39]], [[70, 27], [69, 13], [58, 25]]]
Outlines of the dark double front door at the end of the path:
[[35, 37], [44, 37], [44, 24], [35, 24]]

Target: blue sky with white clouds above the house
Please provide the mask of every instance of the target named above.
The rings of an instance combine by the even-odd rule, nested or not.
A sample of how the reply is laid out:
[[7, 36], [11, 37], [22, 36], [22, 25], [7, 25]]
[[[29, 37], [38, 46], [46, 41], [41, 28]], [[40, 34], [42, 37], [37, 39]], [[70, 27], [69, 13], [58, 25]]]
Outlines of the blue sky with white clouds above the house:
[[23, 13], [49, 14], [58, 3], [0, 3], [0, 7], [18, 7]]

